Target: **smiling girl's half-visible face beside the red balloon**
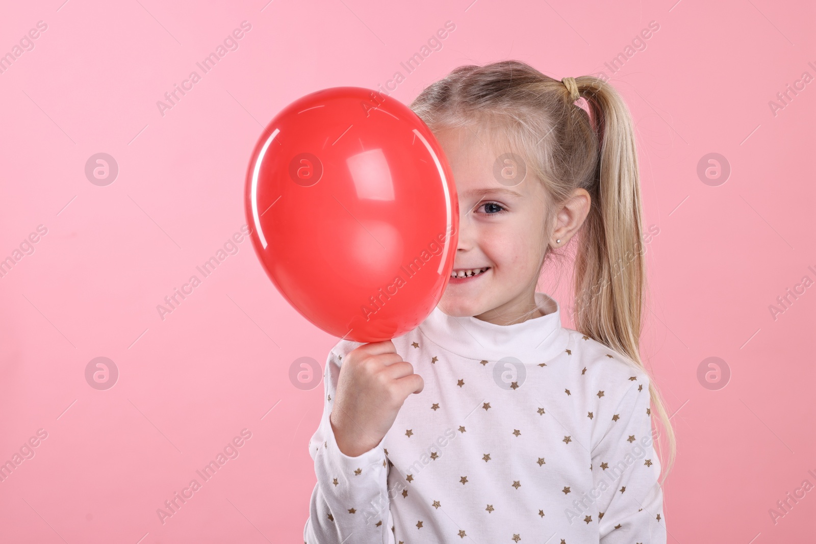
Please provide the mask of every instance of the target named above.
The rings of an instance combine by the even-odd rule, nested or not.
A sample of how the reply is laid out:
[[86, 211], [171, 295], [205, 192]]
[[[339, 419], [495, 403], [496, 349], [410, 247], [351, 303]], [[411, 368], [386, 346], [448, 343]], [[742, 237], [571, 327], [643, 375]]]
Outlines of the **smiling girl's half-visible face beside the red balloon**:
[[476, 316], [497, 325], [542, 316], [534, 293], [548, 245], [543, 185], [530, 172], [520, 181], [522, 168], [512, 159], [503, 161], [509, 150], [490, 148], [484, 133], [482, 139], [477, 130], [467, 128], [434, 134], [459, 194], [454, 272], [486, 268], [470, 278], [451, 278], [440, 309], [449, 316]]

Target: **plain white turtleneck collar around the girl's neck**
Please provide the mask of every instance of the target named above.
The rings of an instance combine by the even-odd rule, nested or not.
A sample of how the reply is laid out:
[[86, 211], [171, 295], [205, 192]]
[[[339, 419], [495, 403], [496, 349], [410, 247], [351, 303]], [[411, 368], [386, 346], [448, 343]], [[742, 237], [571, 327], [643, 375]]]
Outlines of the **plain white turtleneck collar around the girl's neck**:
[[452, 317], [435, 307], [419, 330], [437, 346], [458, 356], [496, 361], [513, 356], [524, 364], [539, 364], [563, 352], [570, 339], [561, 326], [561, 306], [548, 294], [535, 293], [545, 314], [512, 325], [495, 325], [476, 317]]

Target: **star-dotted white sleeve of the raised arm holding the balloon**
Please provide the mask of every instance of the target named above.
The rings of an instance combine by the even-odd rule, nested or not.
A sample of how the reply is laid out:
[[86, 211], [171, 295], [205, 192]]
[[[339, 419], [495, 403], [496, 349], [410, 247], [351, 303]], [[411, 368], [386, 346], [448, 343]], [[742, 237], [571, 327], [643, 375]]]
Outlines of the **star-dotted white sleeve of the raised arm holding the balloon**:
[[388, 461], [378, 444], [357, 457], [341, 452], [329, 416], [334, 405], [342, 354], [358, 343], [341, 341], [326, 360], [323, 374], [323, 414], [309, 440], [317, 484], [304, 527], [305, 544], [392, 544], [392, 517], [388, 498]]

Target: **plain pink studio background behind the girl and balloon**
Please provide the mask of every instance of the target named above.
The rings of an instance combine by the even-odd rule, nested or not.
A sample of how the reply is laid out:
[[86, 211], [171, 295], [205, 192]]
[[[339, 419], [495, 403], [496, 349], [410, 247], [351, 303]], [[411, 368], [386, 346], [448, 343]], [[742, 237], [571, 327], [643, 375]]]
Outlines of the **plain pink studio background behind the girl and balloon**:
[[[816, 280], [816, 83], [769, 107], [816, 76], [811, 2], [12, 2], [0, 54], [39, 20], [0, 73], [0, 259], [47, 228], [0, 278], [0, 462], [47, 439], [0, 482], [0, 541], [301, 542], [322, 386], [301, 391], [288, 371], [323, 365], [336, 338], [282, 299], [247, 240], [163, 321], [156, 306], [246, 223], [252, 146], [286, 104], [397, 70], [408, 104], [455, 66], [508, 58], [558, 78], [603, 71], [636, 121], [645, 227], [659, 229], [643, 351], [679, 440], [669, 542], [813, 537], [816, 491], [769, 515], [816, 484], [816, 287], [769, 312]], [[162, 116], [157, 100], [243, 20], [237, 51]], [[406, 74], [446, 20], [441, 51]], [[100, 152], [119, 167], [104, 187], [84, 173]], [[707, 153], [730, 162], [725, 184], [698, 178]], [[570, 271], [548, 272], [568, 318]], [[97, 356], [119, 370], [106, 391], [86, 383]], [[732, 373], [718, 391], [698, 382], [709, 356]], [[245, 428], [240, 455], [162, 524], [157, 508]]]

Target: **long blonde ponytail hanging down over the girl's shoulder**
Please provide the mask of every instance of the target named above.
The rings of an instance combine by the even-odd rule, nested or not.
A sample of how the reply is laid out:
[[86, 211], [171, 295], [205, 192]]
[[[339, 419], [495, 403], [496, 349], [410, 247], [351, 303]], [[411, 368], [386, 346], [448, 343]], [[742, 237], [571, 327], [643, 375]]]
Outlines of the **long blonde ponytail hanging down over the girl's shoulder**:
[[[649, 374], [639, 347], [647, 285], [632, 116], [618, 92], [601, 79], [576, 77], [575, 82], [587, 100], [600, 143], [592, 188], [588, 189], [592, 206], [577, 240], [575, 328], [627, 356]], [[649, 392], [669, 444], [667, 475], [676, 455], [676, 437], [663, 398], [651, 379]]]

